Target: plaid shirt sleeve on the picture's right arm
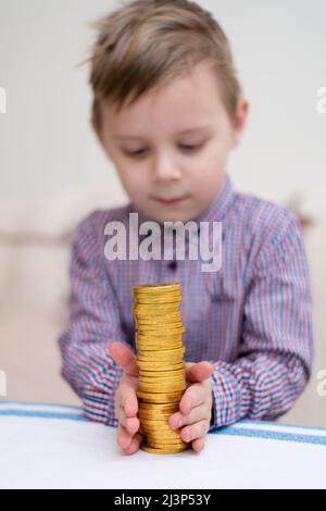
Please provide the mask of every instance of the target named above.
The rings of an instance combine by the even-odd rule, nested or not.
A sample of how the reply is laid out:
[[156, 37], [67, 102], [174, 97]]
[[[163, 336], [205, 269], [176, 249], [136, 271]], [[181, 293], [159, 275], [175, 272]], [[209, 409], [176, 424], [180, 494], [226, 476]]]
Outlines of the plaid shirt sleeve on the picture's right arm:
[[239, 357], [211, 377], [211, 429], [241, 419], [273, 420], [303, 390], [312, 365], [312, 298], [302, 232], [289, 214], [258, 251], [244, 300]]

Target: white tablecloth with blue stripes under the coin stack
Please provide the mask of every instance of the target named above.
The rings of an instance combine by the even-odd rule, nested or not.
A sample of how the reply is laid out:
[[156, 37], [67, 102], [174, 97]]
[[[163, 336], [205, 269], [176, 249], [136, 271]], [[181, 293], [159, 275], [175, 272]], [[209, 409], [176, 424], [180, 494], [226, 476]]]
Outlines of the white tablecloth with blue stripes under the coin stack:
[[326, 488], [326, 429], [243, 421], [197, 454], [125, 456], [76, 407], [0, 402], [1, 488]]

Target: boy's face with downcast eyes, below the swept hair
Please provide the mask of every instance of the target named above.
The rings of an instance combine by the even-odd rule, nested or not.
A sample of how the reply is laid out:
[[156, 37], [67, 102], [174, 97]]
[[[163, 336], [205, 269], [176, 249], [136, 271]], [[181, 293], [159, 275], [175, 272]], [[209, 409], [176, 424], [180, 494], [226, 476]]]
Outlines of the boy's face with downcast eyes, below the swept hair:
[[201, 63], [118, 114], [102, 103], [97, 134], [141, 213], [158, 222], [187, 222], [204, 212], [222, 187], [247, 110], [241, 100], [231, 123], [216, 77]]

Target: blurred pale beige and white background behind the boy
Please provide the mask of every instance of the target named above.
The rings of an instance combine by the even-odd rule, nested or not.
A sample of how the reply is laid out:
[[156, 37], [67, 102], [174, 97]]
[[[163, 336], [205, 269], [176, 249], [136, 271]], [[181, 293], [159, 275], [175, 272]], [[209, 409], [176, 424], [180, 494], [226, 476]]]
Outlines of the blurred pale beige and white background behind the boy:
[[[283, 422], [326, 426], [326, 3], [198, 1], [228, 35], [251, 101], [229, 171], [235, 186], [298, 210], [314, 297], [314, 374]], [[0, 370], [10, 400], [78, 403], [55, 344], [68, 299], [70, 242], [96, 208], [127, 198], [90, 129], [88, 23], [116, 0], [0, 0]], [[1, 109], [0, 109], [1, 110]]]

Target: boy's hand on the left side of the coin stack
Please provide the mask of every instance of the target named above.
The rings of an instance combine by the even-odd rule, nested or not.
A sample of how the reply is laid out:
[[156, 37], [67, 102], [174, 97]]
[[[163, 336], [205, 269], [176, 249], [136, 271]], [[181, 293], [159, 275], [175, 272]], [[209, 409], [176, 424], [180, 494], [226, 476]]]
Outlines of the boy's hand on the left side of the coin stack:
[[139, 367], [133, 351], [122, 342], [112, 342], [109, 348], [111, 357], [123, 369], [123, 375], [115, 394], [115, 414], [118, 419], [117, 444], [125, 454], [138, 451], [142, 432], [137, 417]]

